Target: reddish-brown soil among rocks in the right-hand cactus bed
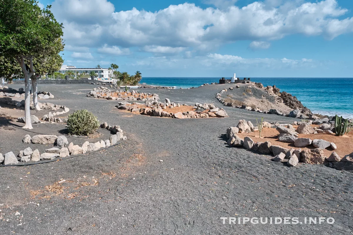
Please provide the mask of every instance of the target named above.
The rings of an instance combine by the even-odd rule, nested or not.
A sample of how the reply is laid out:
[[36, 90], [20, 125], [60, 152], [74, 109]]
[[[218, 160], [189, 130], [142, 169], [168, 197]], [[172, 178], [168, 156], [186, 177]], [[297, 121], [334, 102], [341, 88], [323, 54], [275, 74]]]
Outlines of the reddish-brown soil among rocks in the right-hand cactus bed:
[[[318, 126], [318, 125], [311, 125], [311, 126]], [[250, 132], [250, 133], [239, 133], [238, 136], [240, 138], [244, 138], [245, 136], [249, 136], [252, 138], [253, 141], [255, 142], [265, 142], [265, 141], [270, 141], [271, 144], [273, 145], [279, 145], [284, 148], [294, 148], [297, 149], [297, 147], [294, 146], [293, 143], [284, 143], [278, 141], [277, 136], [279, 135], [279, 132], [275, 128], [264, 128], [261, 133], [261, 138], [259, 138], [259, 132]], [[311, 140], [314, 139], [322, 139], [326, 140], [329, 142], [334, 142], [337, 146], [337, 149], [335, 152], [342, 158], [347, 154], [350, 154], [353, 152], [353, 132], [350, 132], [348, 135], [344, 136], [335, 136], [332, 134], [310, 134], [310, 135], [305, 135], [305, 134], [299, 134], [300, 138], [310, 138]], [[312, 145], [301, 148], [310, 148], [313, 149]], [[327, 149], [324, 149], [324, 153], [326, 156], [330, 156], [331, 153], [334, 150], [332, 150], [330, 147]]]

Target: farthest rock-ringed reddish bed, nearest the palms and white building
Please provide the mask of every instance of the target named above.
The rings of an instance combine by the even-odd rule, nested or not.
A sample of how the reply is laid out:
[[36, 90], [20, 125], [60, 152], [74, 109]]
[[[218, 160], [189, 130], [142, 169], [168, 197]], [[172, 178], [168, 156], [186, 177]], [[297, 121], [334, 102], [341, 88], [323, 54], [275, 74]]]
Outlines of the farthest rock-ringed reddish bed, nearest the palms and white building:
[[151, 94], [151, 93], [138, 93], [134, 90], [130, 91], [111, 91], [106, 87], [98, 87], [94, 88], [90, 91], [87, 96], [92, 96], [95, 98], [107, 99], [107, 100], [138, 100], [138, 101], [145, 101], [145, 100], [159, 100], [158, 94]]

